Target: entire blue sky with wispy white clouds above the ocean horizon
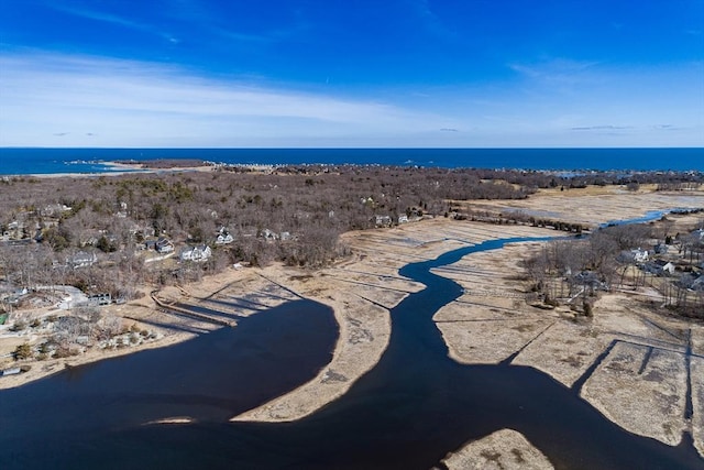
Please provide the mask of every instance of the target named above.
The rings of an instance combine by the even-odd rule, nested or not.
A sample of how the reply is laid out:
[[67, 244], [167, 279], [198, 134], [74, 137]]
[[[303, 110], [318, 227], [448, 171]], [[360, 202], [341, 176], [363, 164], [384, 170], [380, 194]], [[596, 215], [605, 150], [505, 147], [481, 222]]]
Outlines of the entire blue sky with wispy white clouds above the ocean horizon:
[[704, 0], [0, 0], [0, 146], [704, 146]]

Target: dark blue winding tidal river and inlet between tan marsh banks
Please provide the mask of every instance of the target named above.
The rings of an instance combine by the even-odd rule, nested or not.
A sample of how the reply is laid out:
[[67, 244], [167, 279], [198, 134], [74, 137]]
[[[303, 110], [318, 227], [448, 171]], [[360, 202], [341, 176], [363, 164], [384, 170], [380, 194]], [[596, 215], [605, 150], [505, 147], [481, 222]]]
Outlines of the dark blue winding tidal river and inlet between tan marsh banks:
[[[448, 358], [432, 316], [462, 289], [430, 270], [512, 241], [520, 240], [405, 266], [402, 275], [427, 287], [392, 310], [380, 363], [307, 418], [228, 422], [330, 360], [331, 311], [301, 300], [234, 329], [0, 392], [0, 468], [430, 469], [468, 440], [512, 428], [560, 469], [703, 469], [690, 439], [669, 447], [631, 435], [542, 372]], [[167, 416], [193, 422], [145, 424]]]

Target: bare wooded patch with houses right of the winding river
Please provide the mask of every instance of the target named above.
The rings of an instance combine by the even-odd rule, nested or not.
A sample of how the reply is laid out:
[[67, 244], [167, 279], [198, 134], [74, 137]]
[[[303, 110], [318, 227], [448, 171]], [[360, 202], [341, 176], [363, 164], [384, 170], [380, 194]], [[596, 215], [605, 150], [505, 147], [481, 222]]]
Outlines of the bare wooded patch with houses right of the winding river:
[[598, 291], [648, 286], [661, 295], [653, 306], [704, 318], [703, 227], [704, 219], [672, 232], [667, 216], [657, 222], [604, 227], [585, 239], [547, 243], [525, 267], [547, 305], [563, 303], [591, 316]]

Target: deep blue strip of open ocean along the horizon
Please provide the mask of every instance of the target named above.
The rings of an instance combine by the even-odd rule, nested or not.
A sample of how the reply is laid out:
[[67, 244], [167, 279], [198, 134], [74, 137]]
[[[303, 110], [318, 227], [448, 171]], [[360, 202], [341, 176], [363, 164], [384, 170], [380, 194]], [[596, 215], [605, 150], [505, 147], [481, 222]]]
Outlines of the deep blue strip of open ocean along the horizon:
[[118, 160], [229, 164], [380, 164], [443, 168], [704, 171], [693, 149], [34, 149], [0, 147], [0, 175], [109, 173]]

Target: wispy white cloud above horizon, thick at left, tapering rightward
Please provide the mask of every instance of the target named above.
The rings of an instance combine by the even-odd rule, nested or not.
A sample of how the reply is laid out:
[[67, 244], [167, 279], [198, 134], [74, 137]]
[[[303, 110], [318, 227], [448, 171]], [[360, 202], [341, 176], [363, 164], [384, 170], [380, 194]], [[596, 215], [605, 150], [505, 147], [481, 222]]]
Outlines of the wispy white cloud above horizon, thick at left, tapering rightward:
[[0, 68], [7, 70], [0, 145], [51, 145], [57, 132], [68, 132], [57, 145], [238, 145], [439, 127], [430, 113], [388, 103], [209, 79], [156, 64], [41, 54], [0, 58]]

